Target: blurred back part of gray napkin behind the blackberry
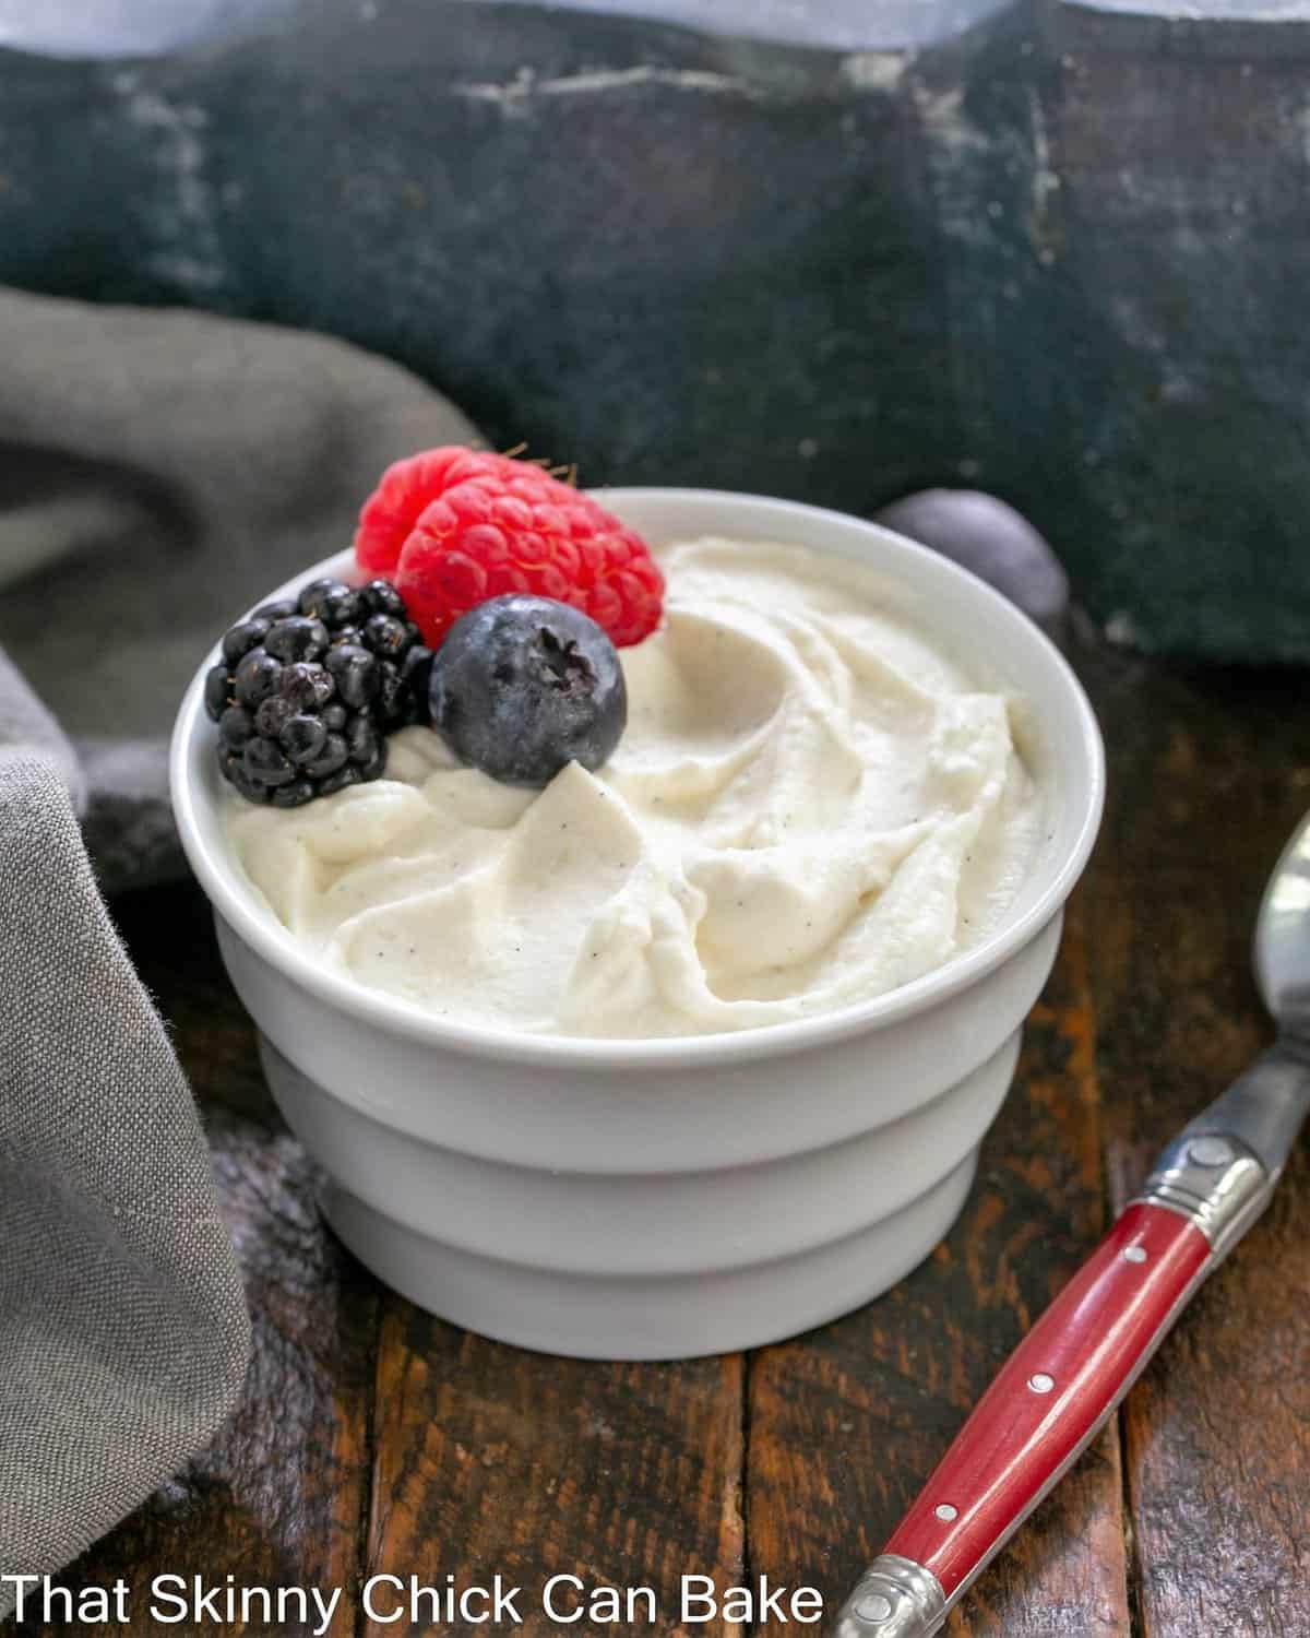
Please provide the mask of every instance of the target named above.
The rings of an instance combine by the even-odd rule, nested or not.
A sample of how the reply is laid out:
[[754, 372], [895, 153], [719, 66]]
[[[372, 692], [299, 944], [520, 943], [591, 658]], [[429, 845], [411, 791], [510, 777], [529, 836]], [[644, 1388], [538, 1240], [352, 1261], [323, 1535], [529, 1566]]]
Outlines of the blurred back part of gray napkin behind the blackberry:
[[385, 359], [201, 313], [0, 287], [0, 649], [77, 744], [102, 886], [159, 881], [205, 649], [350, 544], [388, 462], [475, 429]]

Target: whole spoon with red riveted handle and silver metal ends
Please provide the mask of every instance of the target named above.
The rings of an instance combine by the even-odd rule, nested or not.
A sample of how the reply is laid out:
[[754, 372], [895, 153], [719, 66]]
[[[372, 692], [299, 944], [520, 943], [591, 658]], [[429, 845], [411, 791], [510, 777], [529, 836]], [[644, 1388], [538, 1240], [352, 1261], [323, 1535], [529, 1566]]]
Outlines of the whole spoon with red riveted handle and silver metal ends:
[[1015, 1348], [842, 1605], [833, 1638], [928, 1638], [1133, 1386], [1274, 1192], [1310, 1114], [1310, 814], [1264, 889], [1274, 1045], [1164, 1148]]

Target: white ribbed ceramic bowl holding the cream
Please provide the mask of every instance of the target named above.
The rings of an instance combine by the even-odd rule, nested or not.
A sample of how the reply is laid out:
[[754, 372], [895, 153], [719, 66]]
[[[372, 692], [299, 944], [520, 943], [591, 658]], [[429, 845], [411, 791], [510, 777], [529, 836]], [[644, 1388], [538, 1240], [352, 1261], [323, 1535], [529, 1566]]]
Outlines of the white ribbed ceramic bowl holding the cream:
[[[720, 534], [866, 560], [981, 683], [1023, 701], [1045, 840], [986, 942], [865, 1004], [739, 1034], [614, 1042], [467, 1027], [324, 971], [260, 906], [219, 827], [201, 704], [215, 655], [182, 703], [172, 791], [269, 1084], [328, 1174], [341, 1238], [472, 1330], [657, 1360], [793, 1335], [886, 1291], [942, 1238], [1055, 960], [1104, 763], [1059, 654], [945, 559], [753, 495], [603, 498], [652, 542]], [[342, 554], [270, 595], [349, 572]]]

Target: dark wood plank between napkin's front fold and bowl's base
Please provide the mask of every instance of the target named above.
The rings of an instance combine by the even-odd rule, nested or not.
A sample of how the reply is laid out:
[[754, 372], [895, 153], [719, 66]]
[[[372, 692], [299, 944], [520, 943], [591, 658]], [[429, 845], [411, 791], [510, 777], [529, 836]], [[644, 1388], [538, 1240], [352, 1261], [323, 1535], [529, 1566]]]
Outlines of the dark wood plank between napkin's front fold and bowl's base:
[[[64, 1582], [111, 1586], [123, 1577], [131, 1620], [98, 1630], [133, 1635], [187, 1630], [149, 1620], [156, 1576], [203, 1576], [208, 1586], [231, 1576], [236, 1587], [341, 1586], [329, 1633], [350, 1638], [367, 1515], [378, 1287], [323, 1225], [313, 1168], [269, 1112], [254, 1032], [221, 973], [200, 894], [190, 888], [138, 894], [116, 906], [116, 917], [174, 1025], [192, 1086], [211, 1099], [205, 1117], [255, 1348], [244, 1400], [215, 1445], [74, 1564]], [[25, 1622], [21, 1630], [39, 1628]], [[49, 1628], [67, 1638], [85, 1630]], [[223, 1630], [280, 1628], [254, 1620]]]

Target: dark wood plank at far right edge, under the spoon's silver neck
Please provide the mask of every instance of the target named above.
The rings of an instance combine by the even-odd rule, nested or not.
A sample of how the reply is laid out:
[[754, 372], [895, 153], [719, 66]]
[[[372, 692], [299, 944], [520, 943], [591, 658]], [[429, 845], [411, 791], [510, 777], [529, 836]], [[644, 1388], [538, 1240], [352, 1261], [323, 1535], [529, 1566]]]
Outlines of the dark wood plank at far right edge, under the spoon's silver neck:
[[[1305, 675], [1089, 657], [1110, 749], [1092, 871], [1115, 1206], [1269, 1040], [1264, 878], [1310, 804]], [[1310, 1633], [1310, 1166], [1202, 1289], [1123, 1414], [1143, 1638]]]

